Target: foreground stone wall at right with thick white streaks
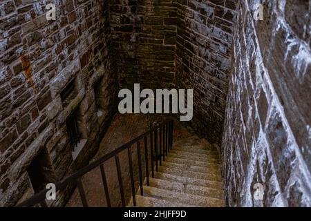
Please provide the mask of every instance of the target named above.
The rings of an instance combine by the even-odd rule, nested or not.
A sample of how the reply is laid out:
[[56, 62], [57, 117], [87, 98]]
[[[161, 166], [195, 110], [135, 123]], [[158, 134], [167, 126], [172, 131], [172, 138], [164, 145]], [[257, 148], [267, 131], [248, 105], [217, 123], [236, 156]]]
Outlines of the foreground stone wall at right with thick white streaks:
[[311, 206], [310, 7], [241, 1], [222, 147], [228, 206]]

